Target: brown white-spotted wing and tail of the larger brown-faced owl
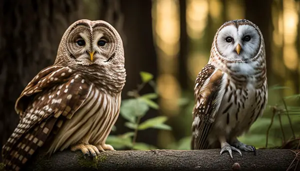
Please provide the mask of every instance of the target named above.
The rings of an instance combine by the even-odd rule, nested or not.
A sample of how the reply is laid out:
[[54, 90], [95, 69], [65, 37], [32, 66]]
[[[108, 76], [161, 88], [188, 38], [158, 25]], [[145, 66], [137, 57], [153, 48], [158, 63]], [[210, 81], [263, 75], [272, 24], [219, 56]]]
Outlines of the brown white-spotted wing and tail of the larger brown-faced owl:
[[92, 84], [68, 67], [41, 70], [16, 100], [15, 110], [21, 120], [2, 148], [4, 164], [17, 170], [26, 163], [51, 130], [80, 108], [91, 89]]

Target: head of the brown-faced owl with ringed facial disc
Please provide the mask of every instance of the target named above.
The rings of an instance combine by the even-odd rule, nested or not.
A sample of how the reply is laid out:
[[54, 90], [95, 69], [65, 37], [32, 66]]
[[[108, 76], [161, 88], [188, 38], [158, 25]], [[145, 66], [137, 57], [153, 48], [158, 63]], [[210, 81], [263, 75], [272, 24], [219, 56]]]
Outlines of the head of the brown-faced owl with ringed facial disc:
[[81, 19], [72, 23], [60, 41], [55, 64], [99, 65], [123, 64], [120, 35], [109, 23]]

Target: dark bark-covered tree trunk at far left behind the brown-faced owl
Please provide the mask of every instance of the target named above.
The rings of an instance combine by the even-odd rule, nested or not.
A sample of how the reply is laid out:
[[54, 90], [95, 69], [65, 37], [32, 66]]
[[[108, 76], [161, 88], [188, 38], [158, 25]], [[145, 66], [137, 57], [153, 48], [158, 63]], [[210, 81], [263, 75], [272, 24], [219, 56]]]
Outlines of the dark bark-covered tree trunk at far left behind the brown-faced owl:
[[80, 6], [80, 0], [0, 3], [0, 147], [18, 123], [15, 100], [34, 75], [54, 62], [63, 32], [80, 18]]

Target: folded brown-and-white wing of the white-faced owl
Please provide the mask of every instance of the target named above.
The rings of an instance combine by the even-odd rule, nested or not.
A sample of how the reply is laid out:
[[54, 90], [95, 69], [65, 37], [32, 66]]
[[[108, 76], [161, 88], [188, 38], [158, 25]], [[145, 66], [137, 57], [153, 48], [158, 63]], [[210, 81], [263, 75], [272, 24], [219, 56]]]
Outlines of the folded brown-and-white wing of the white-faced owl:
[[207, 149], [207, 136], [223, 97], [223, 72], [207, 64], [195, 81], [191, 149]]

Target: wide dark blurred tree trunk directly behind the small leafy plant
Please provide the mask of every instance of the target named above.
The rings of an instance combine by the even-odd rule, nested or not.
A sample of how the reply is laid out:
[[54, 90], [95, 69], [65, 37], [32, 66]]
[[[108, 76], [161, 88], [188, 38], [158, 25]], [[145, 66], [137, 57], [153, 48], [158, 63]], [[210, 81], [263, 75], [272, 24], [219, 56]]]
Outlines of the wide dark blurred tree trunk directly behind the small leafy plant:
[[[126, 92], [135, 88], [140, 82], [140, 71], [146, 71], [157, 76], [157, 60], [152, 37], [152, 17], [151, 17], [151, 0], [120, 0], [120, 9], [124, 15], [123, 35], [125, 40], [125, 68], [126, 68], [126, 84], [123, 89], [122, 98], [126, 97]], [[121, 35], [122, 36], [122, 35]], [[128, 38], [127, 38], [128, 37]], [[129, 41], [130, 40], [130, 41]], [[153, 89], [146, 85], [142, 89], [141, 94], [145, 92], [153, 92]], [[143, 122], [146, 119], [157, 116], [157, 111], [150, 109]], [[123, 123], [123, 118], [119, 117], [117, 127]], [[128, 132], [128, 129], [122, 129], [117, 133]], [[137, 142], [145, 142], [147, 144], [156, 145], [157, 130], [149, 129], [138, 134]]]

